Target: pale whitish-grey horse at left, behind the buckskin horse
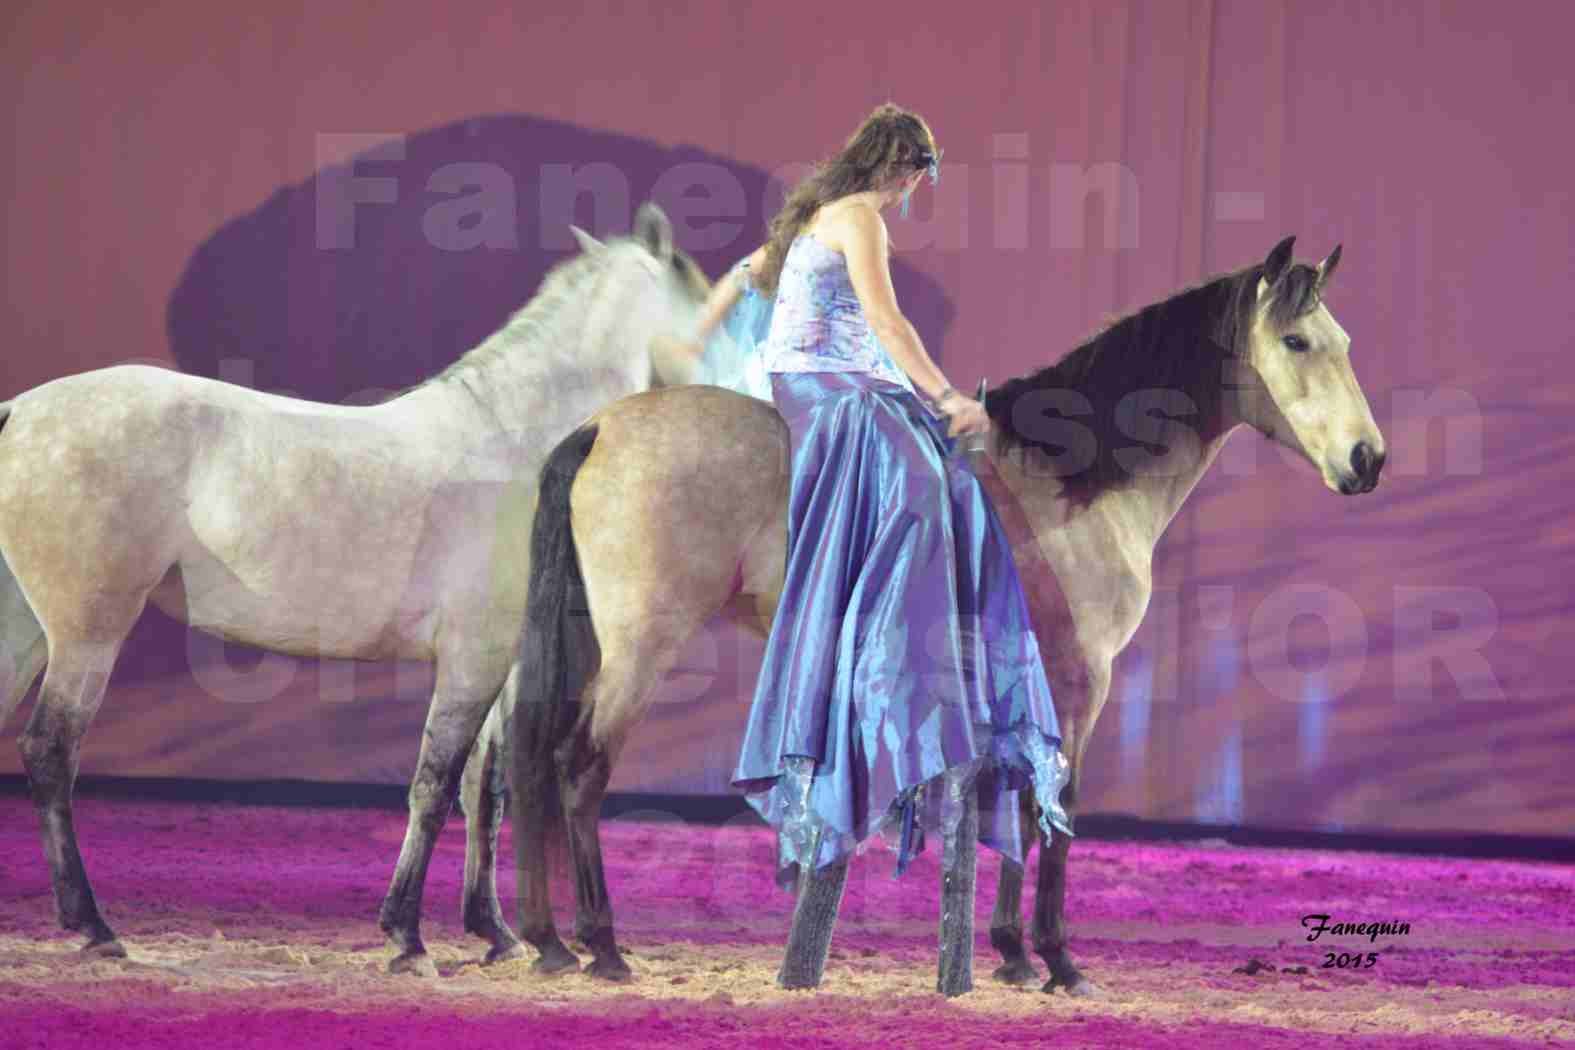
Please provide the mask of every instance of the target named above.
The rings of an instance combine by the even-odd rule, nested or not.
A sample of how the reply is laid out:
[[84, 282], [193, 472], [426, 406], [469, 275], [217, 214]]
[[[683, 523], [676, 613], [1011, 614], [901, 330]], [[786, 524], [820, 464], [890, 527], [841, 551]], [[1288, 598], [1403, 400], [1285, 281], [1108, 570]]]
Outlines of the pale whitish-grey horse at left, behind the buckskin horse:
[[[381, 927], [395, 971], [435, 973], [421, 894], [435, 837], [524, 614], [536, 475], [608, 401], [695, 367], [709, 282], [655, 205], [633, 236], [554, 266], [450, 368], [373, 406], [121, 365], [0, 403], [0, 727], [44, 671], [20, 746], [60, 924], [123, 956], [71, 817], [82, 737], [148, 603], [301, 656], [436, 664], [410, 825]], [[46, 669], [47, 667], [47, 669]], [[491, 957], [520, 951], [482, 915]]]

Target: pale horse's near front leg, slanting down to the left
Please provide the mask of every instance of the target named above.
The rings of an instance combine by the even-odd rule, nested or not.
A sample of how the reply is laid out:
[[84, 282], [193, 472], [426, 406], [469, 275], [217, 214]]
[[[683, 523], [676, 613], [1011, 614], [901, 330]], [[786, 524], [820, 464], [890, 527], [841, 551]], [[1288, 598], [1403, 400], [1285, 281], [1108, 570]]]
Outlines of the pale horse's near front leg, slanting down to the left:
[[416, 776], [410, 782], [405, 844], [380, 915], [383, 932], [398, 949], [398, 956], [389, 963], [391, 973], [438, 973], [421, 941], [421, 894], [438, 833], [454, 808], [465, 762], [498, 696], [498, 680], [465, 682], [441, 660], [438, 663], [438, 688], [427, 712]]

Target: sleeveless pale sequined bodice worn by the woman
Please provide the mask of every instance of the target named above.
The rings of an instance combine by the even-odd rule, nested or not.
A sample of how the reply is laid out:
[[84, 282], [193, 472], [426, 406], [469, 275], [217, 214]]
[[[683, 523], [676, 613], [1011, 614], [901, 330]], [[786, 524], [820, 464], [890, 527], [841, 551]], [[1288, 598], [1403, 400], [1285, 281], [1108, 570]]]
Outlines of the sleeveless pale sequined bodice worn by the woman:
[[868, 372], [914, 390], [869, 327], [847, 260], [813, 233], [788, 247], [761, 354], [767, 372]]

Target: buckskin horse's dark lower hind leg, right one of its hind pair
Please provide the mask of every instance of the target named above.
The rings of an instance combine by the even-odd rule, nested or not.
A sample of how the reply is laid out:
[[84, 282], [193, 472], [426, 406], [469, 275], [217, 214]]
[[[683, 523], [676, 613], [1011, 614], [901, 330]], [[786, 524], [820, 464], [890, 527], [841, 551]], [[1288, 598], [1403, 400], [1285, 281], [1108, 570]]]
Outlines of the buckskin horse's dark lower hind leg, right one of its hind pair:
[[[584, 724], [584, 723], [583, 723]], [[602, 867], [602, 800], [613, 776], [606, 746], [591, 740], [589, 726], [576, 729], [558, 751], [558, 792], [569, 825], [569, 853], [575, 866], [575, 938], [591, 949], [586, 973], [606, 981], [632, 974], [613, 937], [613, 900]]]

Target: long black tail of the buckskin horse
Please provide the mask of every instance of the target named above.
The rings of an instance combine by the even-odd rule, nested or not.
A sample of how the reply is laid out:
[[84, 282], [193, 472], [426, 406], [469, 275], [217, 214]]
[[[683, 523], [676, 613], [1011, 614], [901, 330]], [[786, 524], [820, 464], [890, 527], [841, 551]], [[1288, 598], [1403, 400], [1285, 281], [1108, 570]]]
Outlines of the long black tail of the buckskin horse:
[[531, 579], [520, 641], [518, 693], [513, 718], [509, 719], [515, 841], [520, 845], [520, 819], [528, 808], [547, 828], [547, 841], [562, 845], [564, 811], [558, 795], [556, 751], [575, 730], [580, 694], [600, 656], [569, 516], [569, 493], [595, 438], [597, 425], [586, 423], [547, 457], [531, 526]]

